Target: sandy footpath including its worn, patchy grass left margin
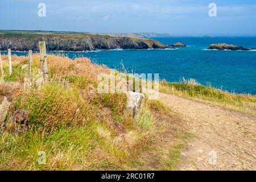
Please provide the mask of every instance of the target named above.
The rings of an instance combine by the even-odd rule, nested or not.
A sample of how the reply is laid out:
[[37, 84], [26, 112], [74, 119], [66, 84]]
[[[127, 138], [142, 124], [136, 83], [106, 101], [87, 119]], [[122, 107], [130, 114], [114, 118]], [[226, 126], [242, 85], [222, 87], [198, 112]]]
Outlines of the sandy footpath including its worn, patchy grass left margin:
[[[165, 129], [159, 130], [155, 141], [129, 169], [256, 170], [253, 115], [172, 94], [160, 93], [159, 100], [171, 112], [154, 113], [159, 128]], [[193, 137], [184, 140], [185, 135], [177, 136], [184, 131]], [[179, 155], [170, 155], [177, 146], [182, 147], [177, 150]]]

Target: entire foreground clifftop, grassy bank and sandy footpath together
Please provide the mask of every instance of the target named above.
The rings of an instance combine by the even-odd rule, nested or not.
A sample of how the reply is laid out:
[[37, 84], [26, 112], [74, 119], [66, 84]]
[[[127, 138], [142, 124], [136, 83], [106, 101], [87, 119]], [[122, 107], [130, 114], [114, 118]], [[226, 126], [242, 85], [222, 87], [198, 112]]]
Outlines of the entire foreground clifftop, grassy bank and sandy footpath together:
[[150, 100], [134, 92], [135, 77], [123, 80], [126, 93], [100, 93], [98, 75], [111, 69], [49, 54], [46, 76], [39, 45], [40, 54], [0, 55], [0, 170], [256, 169], [256, 96], [184, 78], [159, 82]]

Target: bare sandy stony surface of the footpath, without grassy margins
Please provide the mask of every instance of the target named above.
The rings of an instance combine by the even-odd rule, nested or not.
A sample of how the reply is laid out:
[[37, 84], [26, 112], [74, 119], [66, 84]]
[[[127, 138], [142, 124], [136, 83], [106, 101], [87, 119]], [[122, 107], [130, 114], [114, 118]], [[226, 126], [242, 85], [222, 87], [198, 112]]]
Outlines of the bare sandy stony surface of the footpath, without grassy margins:
[[[196, 136], [181, 152], [178, 169], [256, 170], [254, 116], [171, 94], [160, 93], [159, 100], [179, 113], [183, 129]], [[216, 152], [217, 164], [209, 164], [211, 151]]]

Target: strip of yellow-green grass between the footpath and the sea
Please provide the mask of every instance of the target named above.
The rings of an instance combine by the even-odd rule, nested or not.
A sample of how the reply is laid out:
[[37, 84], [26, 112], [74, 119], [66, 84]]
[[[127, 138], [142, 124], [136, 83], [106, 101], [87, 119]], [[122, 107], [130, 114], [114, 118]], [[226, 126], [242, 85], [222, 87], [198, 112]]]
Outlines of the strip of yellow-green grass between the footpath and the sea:
[[193, 79], [172, 83], [162, 82], [160, 83], [160, 92], [176, 94], [193, 100], [209, 102], [226, 109], [256, 115], [256, 96], [229, 93], [212, 86], [201, 85]]

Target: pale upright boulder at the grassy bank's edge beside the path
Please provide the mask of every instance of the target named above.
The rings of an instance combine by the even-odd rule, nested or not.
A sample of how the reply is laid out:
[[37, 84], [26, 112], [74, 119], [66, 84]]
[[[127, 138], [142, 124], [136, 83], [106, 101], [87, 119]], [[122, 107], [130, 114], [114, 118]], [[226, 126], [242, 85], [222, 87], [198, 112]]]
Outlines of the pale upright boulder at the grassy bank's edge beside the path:
[[145, 96], [142, 93], [138, 92], [127, 92], [127, 106], [126, 106], [126, 113], [135, 117], [138, 113], [139, 109], [144, 103]]

